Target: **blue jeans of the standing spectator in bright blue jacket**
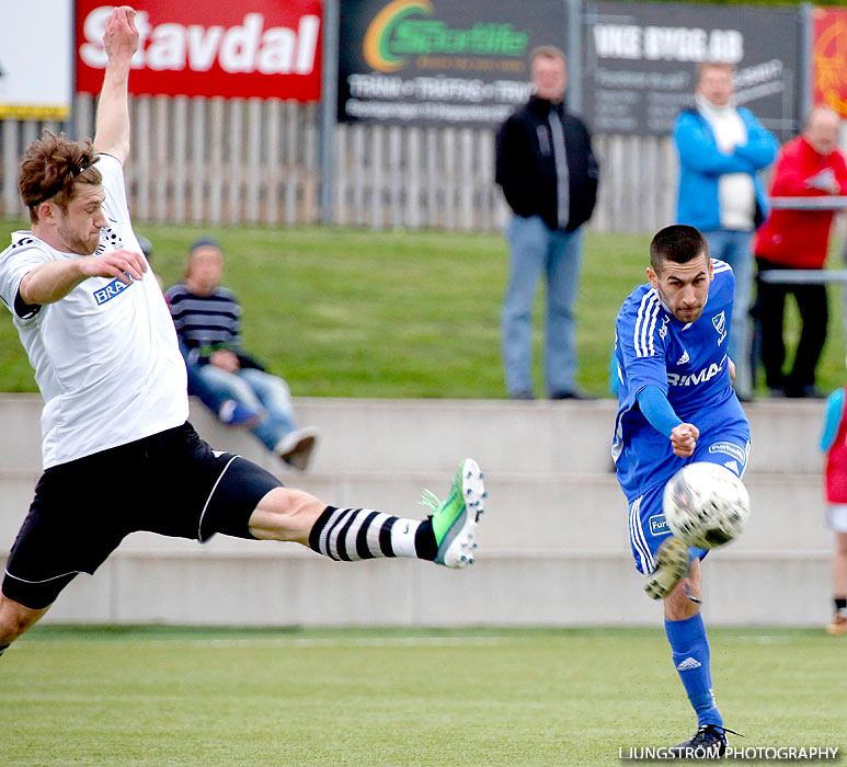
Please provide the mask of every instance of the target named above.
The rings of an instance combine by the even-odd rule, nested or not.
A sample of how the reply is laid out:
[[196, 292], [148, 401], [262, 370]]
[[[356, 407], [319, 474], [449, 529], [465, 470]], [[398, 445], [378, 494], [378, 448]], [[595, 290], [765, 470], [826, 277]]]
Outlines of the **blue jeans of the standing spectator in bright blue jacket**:
[[742, 397], [751, 396], [752, 370], [749, 365], [751, 323], [749, 297], [753, 289], [752, 231], [718, 229], [705, 231], [712, 259], [725, 261], [735, 275], [735, 298], [732, 302], [732, 324], [726, 353], [735, 363], [733, 387]]

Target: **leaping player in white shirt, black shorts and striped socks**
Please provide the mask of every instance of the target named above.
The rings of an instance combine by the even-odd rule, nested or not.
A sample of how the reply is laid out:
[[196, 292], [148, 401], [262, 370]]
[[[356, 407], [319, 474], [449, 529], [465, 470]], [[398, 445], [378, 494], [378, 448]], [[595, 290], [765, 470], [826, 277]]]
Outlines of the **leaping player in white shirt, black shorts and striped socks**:
[[[427, 496], [430, 517], [400, 519], [283, 488], [240, 456], [211, 450], [186, 422], [185, 367], [124, 185], [133, 9], [112, 12], [104, 46], [94, 142], [45, 133], [30, 145], [20, 188], [32, 231], [15, 232], [0, 254], [0, 297], [45, 403], [44, 473], [7, 563], [0, 652], [135, 530], [296, 541], [343, 561], [471, 564], [484, 496], [473, 460], [461, 462], [446, 501]], [[268, 587], [285, 584], [256, 584]]]

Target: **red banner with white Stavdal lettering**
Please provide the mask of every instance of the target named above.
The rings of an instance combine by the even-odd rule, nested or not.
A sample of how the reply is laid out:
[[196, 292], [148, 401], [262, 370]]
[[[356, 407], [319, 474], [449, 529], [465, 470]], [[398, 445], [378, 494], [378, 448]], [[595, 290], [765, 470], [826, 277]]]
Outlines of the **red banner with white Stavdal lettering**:
[[[321, 0], [136, 0], [135, 94], [318, 101]], [[77, 0], [77, 90], [99, 93], [112, 5]]]

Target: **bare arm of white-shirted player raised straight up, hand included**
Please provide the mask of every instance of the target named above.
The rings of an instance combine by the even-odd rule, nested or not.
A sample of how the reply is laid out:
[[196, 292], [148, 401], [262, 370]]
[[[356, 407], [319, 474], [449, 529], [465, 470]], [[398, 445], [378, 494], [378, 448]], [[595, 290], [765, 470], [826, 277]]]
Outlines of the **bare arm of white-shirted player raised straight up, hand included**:
[[108, 61], [98, 104], [94, 148], [117, 158], [129, 156], [129, 61], [138, 49], [135, 11], [128, 5], [116, 8], [106, 19], [103, 46]]

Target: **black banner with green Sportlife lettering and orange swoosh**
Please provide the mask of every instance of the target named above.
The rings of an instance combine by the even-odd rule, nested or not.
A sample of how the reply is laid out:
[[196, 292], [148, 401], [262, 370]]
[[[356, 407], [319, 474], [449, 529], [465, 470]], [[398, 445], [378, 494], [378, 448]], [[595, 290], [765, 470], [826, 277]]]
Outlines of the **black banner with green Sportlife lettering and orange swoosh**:
[[499, 126], [531, 93], [529, 51], [564, 48], [561, 0], [344, 0], [339, 121]]

